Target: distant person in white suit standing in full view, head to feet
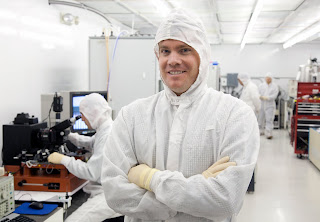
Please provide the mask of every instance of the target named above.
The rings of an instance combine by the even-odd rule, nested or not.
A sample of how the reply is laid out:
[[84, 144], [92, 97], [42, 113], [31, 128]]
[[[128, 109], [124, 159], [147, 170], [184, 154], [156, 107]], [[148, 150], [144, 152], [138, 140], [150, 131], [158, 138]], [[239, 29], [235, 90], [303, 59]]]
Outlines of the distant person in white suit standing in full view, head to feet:
[[275, 99], [278, 96], [278, 85], [272, 81], [272, 74], [265, 75], [265, 82], [259, 85], [261, 111], [259, 113], [260, 134], [272, 139], [273, 121], [276, 109]]

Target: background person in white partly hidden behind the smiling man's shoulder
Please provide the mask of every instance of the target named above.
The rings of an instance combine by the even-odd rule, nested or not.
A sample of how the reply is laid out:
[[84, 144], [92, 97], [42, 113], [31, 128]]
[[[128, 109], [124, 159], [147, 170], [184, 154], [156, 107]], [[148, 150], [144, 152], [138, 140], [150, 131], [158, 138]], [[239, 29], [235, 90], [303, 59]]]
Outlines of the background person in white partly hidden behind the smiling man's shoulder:
[[250, 76], [247, 73], [240, 73], [238, 75], [238, 81], [240, 85], [243, 86], [239, 99], [248, 104], [248, 106], [253, 109], [256, 116], [258, 116], [261, 108], [258, 86], [251, 81]]

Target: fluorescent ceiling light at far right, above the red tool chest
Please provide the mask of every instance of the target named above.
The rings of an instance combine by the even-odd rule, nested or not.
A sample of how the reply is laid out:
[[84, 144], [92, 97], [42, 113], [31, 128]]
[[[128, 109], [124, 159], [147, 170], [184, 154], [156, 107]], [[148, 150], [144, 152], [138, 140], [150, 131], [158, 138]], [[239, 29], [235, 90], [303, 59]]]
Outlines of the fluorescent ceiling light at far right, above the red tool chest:
[[283, 48], [286, 49], [288, 47], [291, 47], [294, 44], [301, 42], [303, 40], [306, 40], [319, 32], [320, 32], [320, 21], [313, 23], [306, 29], [302, 30], [301, 32], [299, 32], [298, 34], [290, 38], [288, 41], [286, 41], [283, 44]]

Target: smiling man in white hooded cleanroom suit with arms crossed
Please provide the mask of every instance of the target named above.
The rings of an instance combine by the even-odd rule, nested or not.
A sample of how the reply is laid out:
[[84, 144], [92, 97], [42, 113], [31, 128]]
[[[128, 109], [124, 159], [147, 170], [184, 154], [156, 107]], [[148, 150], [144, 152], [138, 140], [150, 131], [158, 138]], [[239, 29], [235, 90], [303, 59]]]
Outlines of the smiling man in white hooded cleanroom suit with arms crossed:
[[123, 107], [104, 150], [102, 186], [125, 221], [238, 214], [257, 161], [258, 124], [243, 101], [207, 87], [210, 51], [201, 21], [184, 10], [160, 25], [155, 53], [165, 89]]

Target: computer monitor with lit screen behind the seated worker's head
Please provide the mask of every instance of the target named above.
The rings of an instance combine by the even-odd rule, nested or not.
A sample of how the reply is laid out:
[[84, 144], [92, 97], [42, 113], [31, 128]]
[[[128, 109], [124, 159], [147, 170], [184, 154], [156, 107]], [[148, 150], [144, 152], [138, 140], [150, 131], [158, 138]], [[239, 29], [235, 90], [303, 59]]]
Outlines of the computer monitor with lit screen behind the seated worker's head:
[[[72, 117], [80, 115], [80, 102], [81, 100], [91, 93], [99, 93], [105, 100], [107, 100], [107, 91], [83, 91], [83, 92], [70, 92], [70, 114]], [[79, 119], [71, 127], [72, 132], [77, 132], [79, 134], [92, 134], [95, 131], [88, 129], [87, 125]]]

